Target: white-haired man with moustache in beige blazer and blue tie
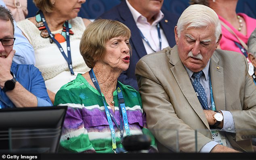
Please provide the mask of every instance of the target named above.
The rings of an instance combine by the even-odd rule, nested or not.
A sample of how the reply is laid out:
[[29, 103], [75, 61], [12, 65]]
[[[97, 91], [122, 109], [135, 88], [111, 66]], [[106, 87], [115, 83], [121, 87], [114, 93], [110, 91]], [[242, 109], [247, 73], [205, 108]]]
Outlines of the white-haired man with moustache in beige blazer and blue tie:
[[159, 152], [253, 151], [256, 89], [246, 57], [216, 49], [218, 15], [191, 5], [174, 33], [173, 48], [146, 55], [136, 65], [143, 110]]

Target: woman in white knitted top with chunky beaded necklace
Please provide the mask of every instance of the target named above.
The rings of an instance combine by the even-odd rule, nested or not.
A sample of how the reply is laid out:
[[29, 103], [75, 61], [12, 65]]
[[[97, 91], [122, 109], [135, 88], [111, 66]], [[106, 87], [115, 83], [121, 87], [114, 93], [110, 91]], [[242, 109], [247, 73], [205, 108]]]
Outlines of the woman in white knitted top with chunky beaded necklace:
[[42, 72], [52, 103], [55, 93], [89, 68], [84, 64], [79, 43], [88, 19], [78, 16], [85, 0], [33, 0], [36, 16], [17, 26], [35, 50], [35, 66]]

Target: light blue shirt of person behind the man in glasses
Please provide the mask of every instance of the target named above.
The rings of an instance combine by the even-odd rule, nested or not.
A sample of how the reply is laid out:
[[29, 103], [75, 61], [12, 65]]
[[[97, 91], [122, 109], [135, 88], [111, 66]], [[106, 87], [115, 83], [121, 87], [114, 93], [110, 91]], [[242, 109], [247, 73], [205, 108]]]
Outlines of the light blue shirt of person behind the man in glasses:
[[[0, 5], [4, 6], [5, 3], [0, 0]], [[13, 62], [17, 64], [35, 64], [35, 53], [32, 45], [26, 39], [26, 37], [22, 34], [21, 30], [17, 27], [16, 22], [13, 21], [14, 24], [14, 45], [13, 49], [16, 51], [13, 57]]]

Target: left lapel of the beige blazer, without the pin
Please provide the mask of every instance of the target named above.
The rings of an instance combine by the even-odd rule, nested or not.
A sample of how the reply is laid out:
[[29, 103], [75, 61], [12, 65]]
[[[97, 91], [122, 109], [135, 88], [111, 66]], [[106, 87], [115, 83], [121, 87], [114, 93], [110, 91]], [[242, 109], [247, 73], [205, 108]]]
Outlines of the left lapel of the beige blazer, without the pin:
[[180, 90], [183, 92], [183, 95], [185, 96], [191, 107], [194, 109], [195, 113], [204, 122], [206, 127], [210, 129], [207, 119], [204, 115], [204, 111], [201, 108], [201, 104], [195, 94], [195, 90], [187, 74], [187, 71], [182, 62], [180, 61], [176, 45], [171, 49], [170, 64], [173, 65], [173, 67], [170, 69], [176, 79], [176, 82], [178, 83], [178, 86], [180, 87]]

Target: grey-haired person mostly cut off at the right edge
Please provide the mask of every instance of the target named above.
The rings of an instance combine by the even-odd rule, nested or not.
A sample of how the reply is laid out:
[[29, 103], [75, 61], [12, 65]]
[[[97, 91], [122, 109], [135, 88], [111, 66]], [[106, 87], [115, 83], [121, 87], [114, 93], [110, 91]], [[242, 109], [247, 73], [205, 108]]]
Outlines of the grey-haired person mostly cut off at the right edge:
[[252, 78], [256, 85], [256, 29], [254, 29], [248, 39], [248, 57], [254, 66], [254, 73], [252, 74]]

